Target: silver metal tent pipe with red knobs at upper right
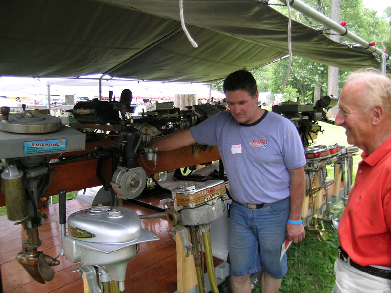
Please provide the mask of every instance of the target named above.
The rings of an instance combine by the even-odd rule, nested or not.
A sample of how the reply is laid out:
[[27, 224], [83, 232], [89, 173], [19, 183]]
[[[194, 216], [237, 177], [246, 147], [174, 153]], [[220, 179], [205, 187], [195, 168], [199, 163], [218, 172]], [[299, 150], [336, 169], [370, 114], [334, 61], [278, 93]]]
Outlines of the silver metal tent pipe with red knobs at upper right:
[[[286, 0], [279, 0], [283, 4], [286, 4]], [[332, 29], [333, 31], [339, 33], [341, 36], [347, 37], [349, 40], [356, 42], [364, 50], [367, 50], [371, 53], [375, 53], [380, 57], [380, 71], [382, 73], [386, 73], [386, 60], [390, 58], [390, 56], [387, 53], [384, 53], [379, 48], [376, 48], [375, 46], [371, 46], [369, 42], [365, 41], [364, 39], [360, 38], [356, 34], [348, 31], [348, 29], [344, 26], [341, 26], [339, 23], [331, 20], [330, 18], [326, 17], [319, 11], [315, 10], [311, 6], [303, 3], [300, 0], [290, 0], [289, 2], [290, 7], [294, 8], [295, 10], [303, 13], [304, 15], [312, 18], [315, 21], [318, 21], [319, 23], [322, 23], [326, 27]]]

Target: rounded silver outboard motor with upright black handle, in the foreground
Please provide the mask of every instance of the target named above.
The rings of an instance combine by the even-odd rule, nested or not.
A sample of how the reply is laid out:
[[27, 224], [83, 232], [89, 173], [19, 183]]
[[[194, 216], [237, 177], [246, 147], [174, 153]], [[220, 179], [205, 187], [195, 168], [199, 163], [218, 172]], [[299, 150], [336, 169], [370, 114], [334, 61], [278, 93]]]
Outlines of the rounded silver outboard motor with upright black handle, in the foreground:
[[110, 288], [124, 291], [126, 267], [137, 254], [138, 245], [159, 238], [141, 228], [135, 211], [109, 206], [95, 206], [71, 214], [69, 235], [66, 235], [65, 190], [59, 195], [65, 257], [82, 264], [78, 271], [87, 279], [91, 292], [111, 292]]

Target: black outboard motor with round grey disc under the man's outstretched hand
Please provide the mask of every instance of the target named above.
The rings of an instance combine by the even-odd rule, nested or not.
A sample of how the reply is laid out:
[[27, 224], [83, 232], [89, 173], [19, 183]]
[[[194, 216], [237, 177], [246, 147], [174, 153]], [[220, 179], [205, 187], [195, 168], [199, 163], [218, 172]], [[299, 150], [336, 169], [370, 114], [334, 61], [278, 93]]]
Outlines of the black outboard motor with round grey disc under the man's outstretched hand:
[[[157, 150], [142, 148], [149, 144], [150, 136], [136, 129], [133, 120], [128, 118], [128, 113], [134, 110], [131, 107], [133, 96], [130, 89], [122, 91], [119, 102], [111, 101], [111, 91], [109, 96], [109, 102], [98, 99], [78, 102], [72, 111], [80, 123], [115, 125], [114, 128], [120, 133], [120, 143], [115, 146], [119, 148], [119, 164], [110, 183], [117, 197], [132, 199], [139, 196], [147, 184], [147, 175], [137, 160], [144, 155], [146, 160], [156, 163]], [[91, 127], [93, 126], [87, 126]]]

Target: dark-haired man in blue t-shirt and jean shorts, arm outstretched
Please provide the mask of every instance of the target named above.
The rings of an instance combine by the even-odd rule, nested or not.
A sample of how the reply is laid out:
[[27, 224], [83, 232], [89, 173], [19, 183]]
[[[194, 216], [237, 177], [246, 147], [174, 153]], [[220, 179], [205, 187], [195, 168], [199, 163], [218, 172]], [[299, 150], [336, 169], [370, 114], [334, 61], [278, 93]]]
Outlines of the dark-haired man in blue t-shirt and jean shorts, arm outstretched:
[[277, 293], [287, 272], [286, 238], [305, 237], [301, 208], [305, 155], [296, 127], [258, 107], [257, 83], [245, 69], [224, 80], [229, 111], [155, 143], [159, 151], [194, 143], [217, 145], [234, 200], [228, 236], [231, 287], [250, 293], [250, 275], [262, 270], [263, 293]]

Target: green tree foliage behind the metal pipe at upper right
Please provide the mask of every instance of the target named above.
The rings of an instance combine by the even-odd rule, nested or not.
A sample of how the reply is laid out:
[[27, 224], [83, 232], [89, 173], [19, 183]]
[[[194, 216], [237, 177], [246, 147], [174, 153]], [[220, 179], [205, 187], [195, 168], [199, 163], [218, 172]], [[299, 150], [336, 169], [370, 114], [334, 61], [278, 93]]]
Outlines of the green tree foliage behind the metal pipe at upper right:
[[[330, 0], [303, 0], [309, 6], [329, 16]], [[273, 6], [276, 10], [287, 15], [287, 8]], [[318, 25], [316, 21], [303, 14], [292, 11], [292, 18], [308, 26]], [[347, 22], [349, 31], [358, 35], [368, 42], [376, 42], [376, 47], [386, 49], [391, 53], [391, 7], [388, 7], [383, 16], [379, 17], [376, 11], [364, 8], [362, 0], [341, 0], [340, 19]], [[329, 31], [325, 31], [328, 33]], [[346, 38], [341, 37], [341, 42], [350, 43]], [[272, 63], [267, 66], [253, 70], [259, 90], [270, 91], [273, 94], [282, 93], [282, 84], [287, 72], [288, 60]], [[339, 88], [341, 89], [348, 71], [339, 71]], [[287, 85], [295, 88], [300, 94], [301, 102], [308, 101], [314, 87], [320, 87], [327, 92], [328, 66], [294, 57], [291, 72]]]

